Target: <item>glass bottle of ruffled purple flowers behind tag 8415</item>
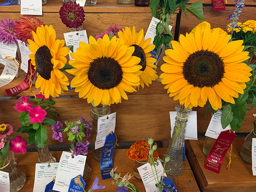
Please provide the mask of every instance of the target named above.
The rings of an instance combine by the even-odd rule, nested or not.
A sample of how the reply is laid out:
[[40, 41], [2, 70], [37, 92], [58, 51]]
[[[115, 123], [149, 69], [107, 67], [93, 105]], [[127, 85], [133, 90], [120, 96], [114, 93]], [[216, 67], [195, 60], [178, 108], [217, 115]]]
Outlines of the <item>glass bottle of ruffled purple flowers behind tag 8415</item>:
[[[62, 128], [62, 123], [57, 121], [55, 125], [52, 125], [52, 139], [59, 140], [59, 142], [63, 141], [62, 134], [67, 133], [68, 140], [71, 145], [71, 156], [78, 156], [80, 153], [82, 155], [88, 154], [88, 145], [90, 142], [87, 140], [82, 142], [83, 137], [90, 137], [90, 133], [92, 131], [92, 123], [89, 122], [89, 118], [85, 120], [84, 117], [76, 121], [65, 121], [66, 128]], [[85, 163], [85, 169], [83, 171], [83, 179], [87, 180], [92, 172], [92, 168]]]

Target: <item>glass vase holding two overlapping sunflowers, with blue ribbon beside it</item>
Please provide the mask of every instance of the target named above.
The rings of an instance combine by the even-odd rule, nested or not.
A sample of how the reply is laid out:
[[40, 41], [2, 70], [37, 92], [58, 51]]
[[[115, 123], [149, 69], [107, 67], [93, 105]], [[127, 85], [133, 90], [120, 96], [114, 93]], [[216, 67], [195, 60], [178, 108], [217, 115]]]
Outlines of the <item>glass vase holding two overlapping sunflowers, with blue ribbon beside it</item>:
[[[79, 97], [87, 99], [87, 102], [91, 104], [92, 157], [98, 162], [100, 162], [103, 149], [101, 147], [95, 150], [94, 147], [98, 118], [110, 113], [111, 104], [121, 102], [121, 98], [127, 100], [125, 92], [135, 92], [134, 87], [140, 85], [144, 88], [144, 83], [149, 86], [156, 78], [156, 72], [152, 69], [154, 66], [152, 62], [156, 59], [150, 57], [148, 53], [154, 49], [154, 45], [149, 45], [150, 39], [144, 40], [143, 30], [136, 33], [133, 27], [132, 32], [130, 28], [119, 32], [119, 38], [110, 33], [110, 36], [105, 34], [97, 41], [90, 36], [89, 45], [80, 42], [77, 52], [71, 53], [74, 60], [69, 61], [74, 69], [66, 70], [67, 73], [75, 76], [71, 81], [71, 86], [79, 92]], [[126, 39], [125, 35], [129, 38]], [[136, 38], [131, 40], [131, 36]]]

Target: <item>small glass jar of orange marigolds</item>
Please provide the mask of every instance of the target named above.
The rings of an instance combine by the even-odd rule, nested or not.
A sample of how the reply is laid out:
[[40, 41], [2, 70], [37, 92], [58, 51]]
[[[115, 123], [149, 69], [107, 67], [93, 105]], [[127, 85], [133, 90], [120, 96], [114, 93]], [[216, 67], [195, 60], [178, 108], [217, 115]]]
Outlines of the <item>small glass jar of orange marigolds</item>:
[[[151, 146], [151, 147], [154, 147], [154, 146]], [[142, 166], [145, 163], [150, 163], [149, 150], [150, 150], [150, 145], [148, 141], [137, 140], [134, 144], [131, 145], [131, 147], [127, 151], [126, 155], [133, 162], [133, 165], [132, 165], [133, 175], [138, 180], [141, 180], [141, 177], [140, 177], [140, 174], [138, 173], [137, 168]], [[156, 150], [154, 150], [153, 157], [154, 157], [154, 160], [157, 160], [156, 158], [158, 158], [158, 153], [156, 152]]]

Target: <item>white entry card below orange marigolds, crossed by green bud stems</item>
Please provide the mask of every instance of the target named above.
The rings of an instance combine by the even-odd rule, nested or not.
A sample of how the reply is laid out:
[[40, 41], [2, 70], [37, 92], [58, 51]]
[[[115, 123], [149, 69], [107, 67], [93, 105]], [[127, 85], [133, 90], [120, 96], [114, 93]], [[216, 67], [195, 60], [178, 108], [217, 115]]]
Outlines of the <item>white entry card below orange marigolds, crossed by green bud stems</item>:
[[[164, 168], [159, 160], [157, 160], [158, 166], [156, 166], [158, 180], [161, 180], [161, 176], [163, 175]], [[154, 173], [156, 173], [155, 169]], [[142, 182], [146, 189], [146, 192], [159, 192], [159, 188], [156, 187], [156, 181], [154, 179], [154, 175], [149, 163], [146, 163], [140, 167], [138, 167], [138, 172], [142, 178]], [[166, 174], [164, 173], [164, 176]]]

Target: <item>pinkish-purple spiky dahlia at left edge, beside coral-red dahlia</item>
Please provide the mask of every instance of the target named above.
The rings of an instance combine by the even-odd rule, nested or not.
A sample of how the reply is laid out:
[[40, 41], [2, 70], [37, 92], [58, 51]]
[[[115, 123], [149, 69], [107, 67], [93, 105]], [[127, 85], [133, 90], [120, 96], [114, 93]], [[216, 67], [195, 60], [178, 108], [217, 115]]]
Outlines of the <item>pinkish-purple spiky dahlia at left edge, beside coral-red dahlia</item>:
[[0, 42], [6, 43], [7, 45], [11, 44], [12, 42], [17, 44], [16, 32], [14, 31], [14, 25], [16, 24], [16, 20], [13, 21], [7, 18], [3, 18], [0, 22]]

